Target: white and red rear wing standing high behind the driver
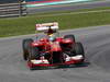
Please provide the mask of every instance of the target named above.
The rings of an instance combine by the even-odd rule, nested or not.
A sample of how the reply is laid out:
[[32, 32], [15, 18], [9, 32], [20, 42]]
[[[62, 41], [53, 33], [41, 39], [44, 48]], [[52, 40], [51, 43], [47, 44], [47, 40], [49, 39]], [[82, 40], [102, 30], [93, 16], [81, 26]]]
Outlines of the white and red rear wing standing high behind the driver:
[[55, 31], [58, 30], [58, 23], [53, 22], [53, 23], [36, 24], [36, 31], [48, 31], [50, 28]]

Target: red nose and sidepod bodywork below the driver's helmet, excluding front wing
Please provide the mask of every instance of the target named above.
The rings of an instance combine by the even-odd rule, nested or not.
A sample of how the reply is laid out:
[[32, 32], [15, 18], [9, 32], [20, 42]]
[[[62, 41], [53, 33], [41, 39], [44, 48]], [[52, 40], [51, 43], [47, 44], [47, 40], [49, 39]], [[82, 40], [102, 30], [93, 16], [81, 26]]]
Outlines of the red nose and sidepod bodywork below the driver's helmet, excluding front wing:
[[59, 44], [74, 44], [70, 39], [63, 39], [62, 37], [57, 37], [54, 42], [50, 42], [47, 38], [42, 38], [40, 40], [35, 40], [31, 45], [33, 47], [42, 47], [42, 49], [48, 51], [62, 51]]

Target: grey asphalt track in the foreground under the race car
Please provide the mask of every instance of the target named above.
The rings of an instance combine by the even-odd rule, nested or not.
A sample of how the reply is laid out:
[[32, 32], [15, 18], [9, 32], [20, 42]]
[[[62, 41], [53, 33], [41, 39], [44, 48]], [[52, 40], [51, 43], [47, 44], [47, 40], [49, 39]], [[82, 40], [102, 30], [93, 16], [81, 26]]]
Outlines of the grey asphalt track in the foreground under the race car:
[[34, 36], [0, 38], [0, 82], [110, 82], [110, 25], [61, 33], [75, 34], [82, 43], [86, 66], [31, 71], [22, 58], [21, 43]]

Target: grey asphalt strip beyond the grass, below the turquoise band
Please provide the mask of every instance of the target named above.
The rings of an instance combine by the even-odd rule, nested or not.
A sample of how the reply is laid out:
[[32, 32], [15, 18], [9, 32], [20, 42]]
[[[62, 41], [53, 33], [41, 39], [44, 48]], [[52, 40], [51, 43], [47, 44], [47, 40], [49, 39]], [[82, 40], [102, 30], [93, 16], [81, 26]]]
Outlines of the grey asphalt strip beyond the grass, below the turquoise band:
[[33, 14], [38, 12], [68, 11], [68, 10], [76, 11], [79, 9], [94, 9], [99, 7], [110, 7], [110, 0], [28, 8], [28, 13]]

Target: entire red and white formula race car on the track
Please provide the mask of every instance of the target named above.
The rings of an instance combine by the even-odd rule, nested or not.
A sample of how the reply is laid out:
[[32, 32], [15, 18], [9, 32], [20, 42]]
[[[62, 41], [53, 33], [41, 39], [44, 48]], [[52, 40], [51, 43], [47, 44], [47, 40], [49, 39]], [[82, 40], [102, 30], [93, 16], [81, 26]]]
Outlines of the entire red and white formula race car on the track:
[[43, 31], [46, 37], [35, 40], [26, 38], [22, 42], [23, 59], [28, 61], [30, 69], [84, 62], [81, 43], [76, 43], [72, 34], [59, 37], [57, 22], [36, 24], [36, 31]]

